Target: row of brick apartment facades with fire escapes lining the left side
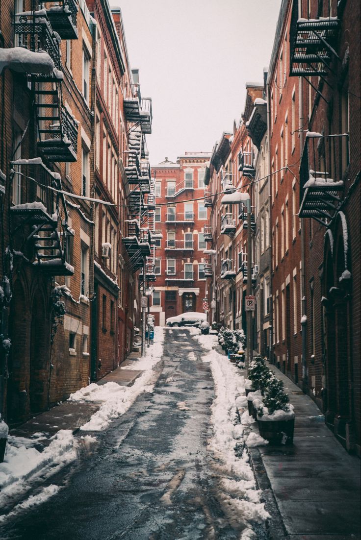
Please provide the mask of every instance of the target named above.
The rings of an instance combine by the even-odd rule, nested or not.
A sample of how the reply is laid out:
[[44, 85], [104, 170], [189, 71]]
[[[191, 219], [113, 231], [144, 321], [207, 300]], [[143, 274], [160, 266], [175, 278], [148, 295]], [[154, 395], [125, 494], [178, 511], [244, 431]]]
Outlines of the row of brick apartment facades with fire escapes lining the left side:
[[130, 68], [121, 12], [37, 7], [3, 2], [0, 26], [0, 411], [10, 424], [124, 360], [152, 249], [151, 100]]

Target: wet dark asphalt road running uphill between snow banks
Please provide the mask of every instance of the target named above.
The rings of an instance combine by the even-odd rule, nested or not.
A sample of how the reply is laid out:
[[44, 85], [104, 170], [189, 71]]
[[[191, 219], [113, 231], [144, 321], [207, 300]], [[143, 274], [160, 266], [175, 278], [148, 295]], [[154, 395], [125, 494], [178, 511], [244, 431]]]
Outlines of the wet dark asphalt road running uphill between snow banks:
[[[62, 489], [0, 529], [0, 538], [197, 540], [239, 538], [217, 500], [207, 449], [214, 397], [204, 350], [166, 330], [153, 392], [48, 484]], [[94, 435], [94, 434], [92, 434]]]

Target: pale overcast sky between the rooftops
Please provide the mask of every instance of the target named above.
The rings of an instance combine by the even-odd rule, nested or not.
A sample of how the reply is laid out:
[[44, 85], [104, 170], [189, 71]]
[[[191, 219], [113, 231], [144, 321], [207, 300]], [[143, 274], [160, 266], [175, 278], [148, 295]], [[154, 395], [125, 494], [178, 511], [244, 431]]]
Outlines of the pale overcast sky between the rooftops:
[[210, 152], [239, 121], [246, 82], [263, 82], [280, 0], [116, 2], [142, 96], [152, 98], [151, 164]]

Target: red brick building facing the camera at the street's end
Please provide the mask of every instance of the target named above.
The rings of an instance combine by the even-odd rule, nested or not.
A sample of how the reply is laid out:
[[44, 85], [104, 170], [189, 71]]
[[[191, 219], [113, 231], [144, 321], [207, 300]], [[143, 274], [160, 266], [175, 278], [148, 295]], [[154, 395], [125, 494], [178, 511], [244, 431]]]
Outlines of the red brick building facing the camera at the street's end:
[[150, 313], [163, 326], [168, 317], [186, 311], [204, 312], [206, 248], [204, 226], [209, 212], [204, 206], [204, 173], [210, 154], [185, 152], [176, 163], [152, 167], [155, 177], [157, 239], [155, 290]]

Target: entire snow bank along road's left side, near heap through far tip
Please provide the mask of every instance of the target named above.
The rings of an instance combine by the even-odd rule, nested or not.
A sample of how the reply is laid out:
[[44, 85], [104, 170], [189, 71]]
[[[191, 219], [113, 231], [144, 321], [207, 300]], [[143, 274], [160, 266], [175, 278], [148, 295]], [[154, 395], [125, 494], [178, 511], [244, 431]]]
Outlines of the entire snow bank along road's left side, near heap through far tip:
[[[70, 401], [103, 401], [101, 408], [91, 416], [89, 422], [81, 430], [98, 431], [105, 429], [111, 420], [129, 409], [131, 404], [142, 392], [150, 392], [154, 371], [153, 367], [161, 360], [163, 354], [163, 328], [156, 328], [154, 345], [148, 349], [145, 359], [135, 362], [134, 366], [126, 369], [144, 369], [132, 387], [123, 387], [115, 382], [103, 386], [90, 384], [70, 396]], [[41, 481], [57, 473], [65, 465], [77, 458], [79, 439], [73, 436], [70, 429], [62, 429], [51, 437], [51, 443], [43, 451], [34, 446], [41, 445], [42, 440], [48, 439], [47, 433], [35, 433], [31, 438], [9, 436], [5, 460], [0, 464], [0, 509], [4, 509], [15, 496], [25, 495], [37, 480]], [[81, 437], [86, 443], [96, 442], [90, 435]], [[8, 515], [31, 508], [45, 501], [58, 491], [57, 486], [48, 486], [36, 496], [30, 496], [18, 504]], [[0, 510], [1, 512], [1, 510]], [[0, 524], [5, 516], [0, 516]]]

